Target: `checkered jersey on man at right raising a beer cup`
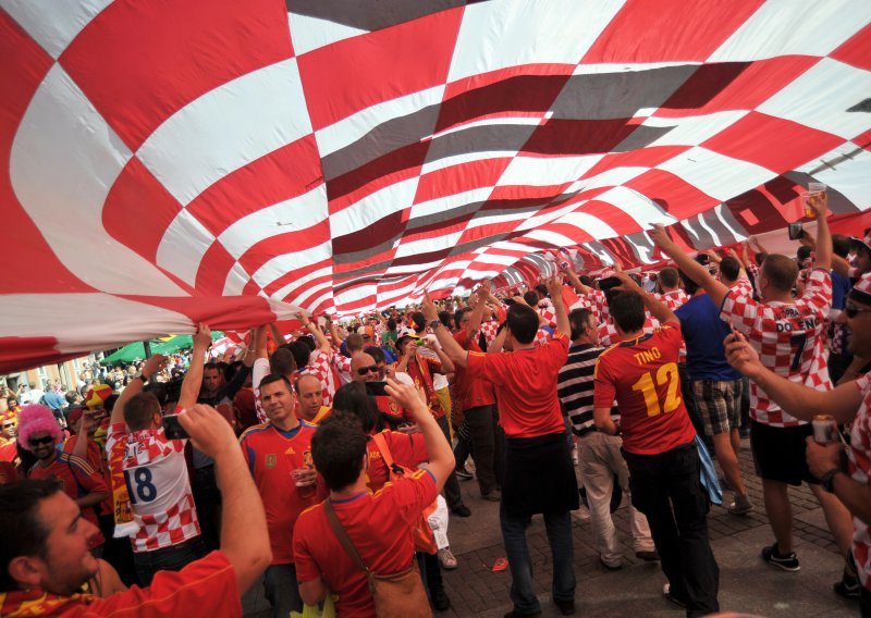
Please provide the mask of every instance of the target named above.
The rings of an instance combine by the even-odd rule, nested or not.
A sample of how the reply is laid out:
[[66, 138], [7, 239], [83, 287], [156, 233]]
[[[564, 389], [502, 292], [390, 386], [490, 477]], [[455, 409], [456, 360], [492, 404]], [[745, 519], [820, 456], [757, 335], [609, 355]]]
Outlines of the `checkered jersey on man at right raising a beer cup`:
[[[733, 288], [723, 301], [721, 316], [747, 336], [768, 369], [792, 382], [829, 390], [832, 382], [823, 331], [831, 305], [832, 276], [814, 269], [805, 294], [794, 305], [757, 302]], [[750, 382], [750, 416], [771, 427], [806, 424], [784, 412], [756, 382]]]

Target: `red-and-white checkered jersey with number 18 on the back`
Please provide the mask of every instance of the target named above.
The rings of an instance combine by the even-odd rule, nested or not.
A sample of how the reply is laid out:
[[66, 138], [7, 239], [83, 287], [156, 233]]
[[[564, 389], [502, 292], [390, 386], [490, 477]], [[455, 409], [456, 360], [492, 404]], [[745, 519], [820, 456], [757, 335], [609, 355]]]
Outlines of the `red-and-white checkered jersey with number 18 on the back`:
[[183, 440], [167, 440], [163, 429], [130, 433], [124, 423], [109, 427], [109, 466], [123, 470], [133, 519], [139, 526], [134, 552], [184, 543], [199, 534]]

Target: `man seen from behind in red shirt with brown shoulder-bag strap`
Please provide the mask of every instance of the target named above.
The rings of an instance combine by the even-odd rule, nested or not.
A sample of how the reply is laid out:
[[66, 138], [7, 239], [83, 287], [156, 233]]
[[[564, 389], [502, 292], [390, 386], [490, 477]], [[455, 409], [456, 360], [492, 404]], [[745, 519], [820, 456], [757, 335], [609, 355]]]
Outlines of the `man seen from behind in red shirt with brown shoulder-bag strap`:
[[[330, 487], [332, 508], [363, 563], [379, 576], [400, 573], [413, 566], [412, 527], [454, 470], [451, 446], [417, 390], [391, 379], [387, 388], [417, 421], [429, 452], [428, 470], [417, 470], [370, 494], [366, 484], [367, 435], [356, 418], [333, 415], [311, 441], [315, 464]], [[321, 602], [329, 590], [338, 594], [339, 615], [375, 618], [366, 573], [335, 537], [322, 505], [299, 516], [294, 555], [306, 603]]]

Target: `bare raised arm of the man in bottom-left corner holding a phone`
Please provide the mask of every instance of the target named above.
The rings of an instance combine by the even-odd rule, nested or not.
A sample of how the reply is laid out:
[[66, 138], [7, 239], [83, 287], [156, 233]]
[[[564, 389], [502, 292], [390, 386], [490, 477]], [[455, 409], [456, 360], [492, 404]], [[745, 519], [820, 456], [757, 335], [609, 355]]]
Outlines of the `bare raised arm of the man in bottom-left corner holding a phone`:
[[194, 446], [214, 459], [221, 490], [221, 552], [233, 565], [240, 593], [256, 582], [269, 563], [269, 533], [260, 494], [230, 424], [212, 407], [197, 404], [179, 417]]

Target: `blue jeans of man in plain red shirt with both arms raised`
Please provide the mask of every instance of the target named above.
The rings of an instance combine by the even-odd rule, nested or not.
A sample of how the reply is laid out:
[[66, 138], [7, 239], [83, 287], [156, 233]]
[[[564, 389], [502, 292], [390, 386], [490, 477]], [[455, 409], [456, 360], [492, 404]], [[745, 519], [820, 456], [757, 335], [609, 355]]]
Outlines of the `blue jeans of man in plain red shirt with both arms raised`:
[[[513, 517], [505, 512], [504, 505], [499, 509], [499, 522], [502, 526], [502, 541], [511, 568], [511, 600], [517, 614], [536, 614], [541, 605], [532, 590], [532, 561], [529, 559], [529, 546], [526, 543], [526, 529], [531, 521], [530, 516]], [[553, 556], [554, 602], [575, 600], [574, 546], [572, 543], [572, 514], [544, 514], [544, 527], [548, 530], [548, 542]]]

